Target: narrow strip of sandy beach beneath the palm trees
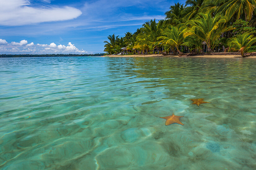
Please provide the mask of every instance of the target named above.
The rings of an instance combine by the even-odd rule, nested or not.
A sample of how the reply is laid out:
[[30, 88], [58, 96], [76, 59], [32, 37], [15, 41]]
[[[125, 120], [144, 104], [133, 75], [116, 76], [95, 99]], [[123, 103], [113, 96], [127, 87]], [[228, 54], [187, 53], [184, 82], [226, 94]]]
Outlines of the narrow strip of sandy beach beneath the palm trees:
[[[137, 54], [137, 55], [106, 55], [103, 57], [180, 57], [178, 55], [167, 55], [167, 56], [163, 56], [162, 54]], [[223, 58], [240, 58], [240, 55], [218, 55], [218, 54], [214, 54], [214, 55], [196, 55], [196, 56], [189, 56], [189, 57], [223, 57]], [[256, 56], [249, 56], [249, 57], [245, 57], [245, 58], [256, 58]]]

